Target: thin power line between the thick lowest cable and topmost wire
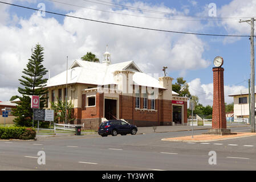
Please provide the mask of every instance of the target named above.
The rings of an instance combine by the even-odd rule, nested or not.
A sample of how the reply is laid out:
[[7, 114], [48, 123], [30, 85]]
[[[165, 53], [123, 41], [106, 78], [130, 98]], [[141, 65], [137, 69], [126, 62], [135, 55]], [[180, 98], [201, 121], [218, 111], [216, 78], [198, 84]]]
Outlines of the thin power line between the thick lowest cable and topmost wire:
[[[101, 12], [105, 12], [105, 13], [113, 13], [113, 14], [120, 14], [120, 15], [127, 15], [127, 16], [136, 16], [136, 17], [142, 17], [142, 18], [166, 19], [166, 20], [179, 20], [179, 21], [195, 21], [195, 22], [209, 21], [209, 20], [218, 20], [218, 19], [174, 19], [174, 18], [159, 18], [159, 17], [153, 17], [153, 16], [132, 15], [132, 14], [125, 14], [125, 13], [118, 13], [118, 12], [115, 12], [115, 11], [107, 11], [107, 10], [93, 9], [93, 8], [91, 8], [91, 7], [84, 7], [84, 6], [72, 5], [72, 4], [69, 4], [69, 3], [59, 2], [59, 1], [54, 1], [54, 0], [47, 0], [47, 1], [56, 2], [56, 3], [63, 4], [63, 5], [68, 5], [68, 6], [80, 7], [80, 8], [83, 8], [83, 9], [101, 11]], [[223, 21], [228, 21], [228, 20], [237, 20], [237, 19], [224, 19]]]

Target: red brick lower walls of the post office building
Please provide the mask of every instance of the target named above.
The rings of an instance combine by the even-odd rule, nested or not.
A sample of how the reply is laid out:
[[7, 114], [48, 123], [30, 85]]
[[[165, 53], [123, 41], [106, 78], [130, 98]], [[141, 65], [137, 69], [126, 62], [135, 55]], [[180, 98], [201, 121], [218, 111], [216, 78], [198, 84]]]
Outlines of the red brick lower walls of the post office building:
[[[172, 122], [172, 101], [156, 100], [155, 110], [136, 110], [136, 97], [119, 96], [119, 118], [137, 126], [159, 126], [171, 125]], [[140, 98], [140, 109], [143, 109], [143, 98]], [[148, 109], [151, 109], [151, 100], [148, 100]], [[74, 109], [77, 123], [82, 123], [87, 118], [103, 118], [104, 94], [96, 94], [96, 106]], [[87, 121], [88, 122], [88, 121]], [[184, 102], [184, 123], [187, 122], [186, 102]]]

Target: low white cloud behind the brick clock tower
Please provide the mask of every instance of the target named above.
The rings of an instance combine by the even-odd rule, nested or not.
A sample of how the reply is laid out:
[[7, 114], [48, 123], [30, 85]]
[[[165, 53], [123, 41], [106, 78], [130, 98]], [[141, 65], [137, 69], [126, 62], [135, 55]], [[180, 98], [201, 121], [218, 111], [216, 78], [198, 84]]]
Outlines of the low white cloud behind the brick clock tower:
[[[198, 96], [200, 104], [213, 105], [213, 83], [201, 84], [200, 78], [195, 78], [188, 83], [189, 92], [192, 96]], [[230, 94], [237, 92], [238, 90], [245, 89], [245, 86], [239, 85], [225, 85], [224, 86], [224, 100], [227, 104], [233, 102], [233, 97], [229, 97]]]

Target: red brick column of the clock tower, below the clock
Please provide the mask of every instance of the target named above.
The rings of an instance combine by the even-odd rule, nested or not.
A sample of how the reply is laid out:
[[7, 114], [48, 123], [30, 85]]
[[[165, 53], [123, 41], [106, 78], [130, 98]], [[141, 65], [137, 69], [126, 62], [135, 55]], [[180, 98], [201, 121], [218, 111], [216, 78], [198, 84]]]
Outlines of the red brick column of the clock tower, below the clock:
[[226, 129], [224, 68], [213, 68], [213, 129]]

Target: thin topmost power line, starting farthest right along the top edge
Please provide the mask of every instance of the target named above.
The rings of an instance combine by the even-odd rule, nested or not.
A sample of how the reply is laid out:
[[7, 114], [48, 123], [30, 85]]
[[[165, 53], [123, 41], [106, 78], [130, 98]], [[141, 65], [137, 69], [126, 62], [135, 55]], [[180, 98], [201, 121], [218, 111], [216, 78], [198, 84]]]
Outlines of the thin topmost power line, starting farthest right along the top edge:
[[[111, 3], [111, 2], [106, 2], [106, 1], [100, 1], [100, 0], [96, 0], [99, 2], [94, 2], [94, 1], [89, 1], [89, 0], [82, 0], [82, 1], [87, 1], [87, 2], [91, 2], [91, 3], [96, 3], [99, 5], [105, 5], [105, 6], [111, 6], [111, 7], [123, 7], [126, 9], [131, 9], [131, 10], [137, 10], [137, 11], [144, 11], [144, 12], [148, 12], [148, 13], [156, 13], [156, 14], [165, 14], [165, 15], [176, 15], [176, 16], [187, 16], [187, 17], [192, 17], [192, 18], [206, 18], [206, 19], [241, 19], [241, 18], [249, 18], [249, 17], [209, 17], [209, 16], [196, 16], [196, 15], [184, 15], [184, 14], [175, 14], [175, 13], [168, 13], [168, 12], [164, 12], [164, 11], [154, 11], [154, 10], [147, 10], [147, 9], [140, 9], [137, 7], [132, 7], [132, 6], [125, 6], [125, 5], [120, 5], [120, 4], [116, 4], [116, 3]], [[104, 3], [100, 3], [100, 2], [104, 2]], [[108, 4], [111, 5], [108, 5]]]

